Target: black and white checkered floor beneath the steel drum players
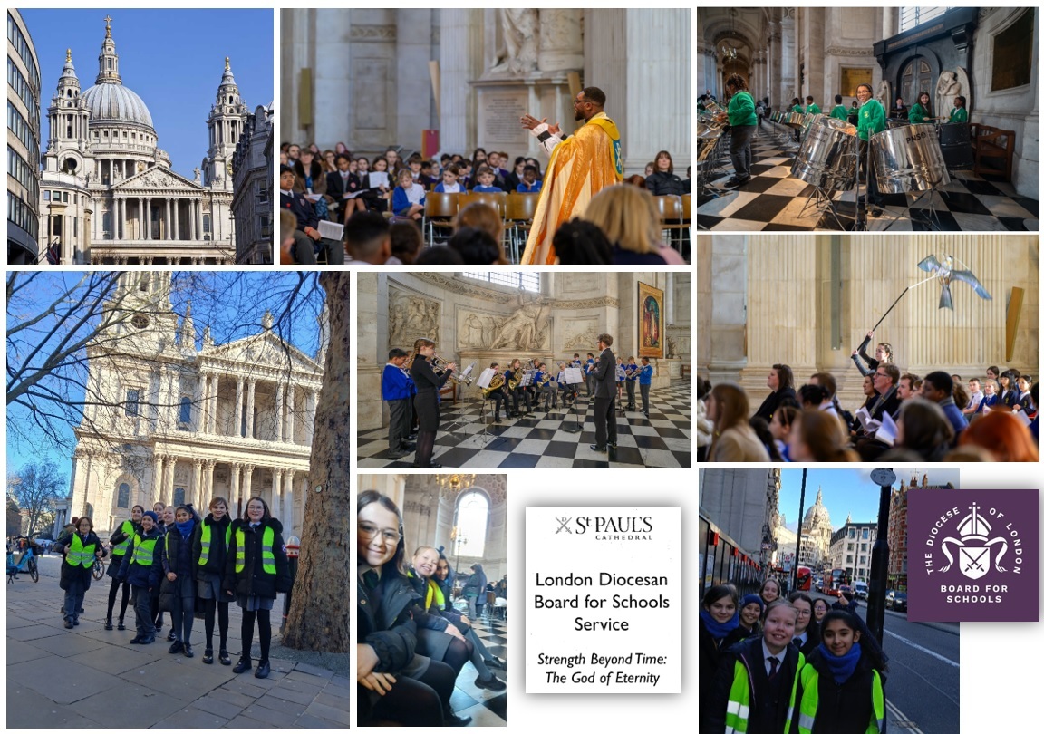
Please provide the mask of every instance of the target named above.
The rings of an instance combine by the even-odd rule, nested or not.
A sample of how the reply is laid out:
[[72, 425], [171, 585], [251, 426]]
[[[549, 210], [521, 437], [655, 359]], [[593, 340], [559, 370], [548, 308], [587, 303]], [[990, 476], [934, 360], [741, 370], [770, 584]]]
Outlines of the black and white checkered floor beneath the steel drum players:
[[[717, 198], [696, 199], [696, 222], [701, 230], [718, 232], [809, 232], [838, 229], [838, 222], [823, 206], [806, 204], [813, 197], [811, 186], [790, 176], [796, 157], [793, 145], [786, 149], [780, 137], [789, 127], [764, 122], [751, 144], [754, 153], [752, 181]], [[722, 145], [728, 141], [722, 141]], [[723, 189], [733, 168], [725, 156], [725, 173], [713, 183]], [[871, 216], [871, 232], [1036, 232], [1040, 229], [1040, 202], [1019, 196], [1012, 184], [986, 180], [971, 171], [951, 171], [950, 183], [928, 194], [885, 194], [880, 216]], [[855, 226], [855, 193], [834, 192], [840, 227]], [[933, 204], [935, 219], [929, 219]]]

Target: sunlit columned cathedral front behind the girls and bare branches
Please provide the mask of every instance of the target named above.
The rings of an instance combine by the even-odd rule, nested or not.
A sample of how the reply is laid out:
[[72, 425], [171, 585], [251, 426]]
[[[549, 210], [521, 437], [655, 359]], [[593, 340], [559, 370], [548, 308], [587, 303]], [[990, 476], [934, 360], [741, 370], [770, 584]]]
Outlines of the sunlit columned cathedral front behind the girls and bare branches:
[[69, 517], [104, 535], [135, 504], [224, 497], [242, 517], [260, 496], [285, 537], [301, 534], [323, 368], [271, 331], [197, 346], [191, 307], [170, 303], [169, 271], [125, 274], [105, 304], [111, 326], [88, 348], [84, 419], [75, 429]]

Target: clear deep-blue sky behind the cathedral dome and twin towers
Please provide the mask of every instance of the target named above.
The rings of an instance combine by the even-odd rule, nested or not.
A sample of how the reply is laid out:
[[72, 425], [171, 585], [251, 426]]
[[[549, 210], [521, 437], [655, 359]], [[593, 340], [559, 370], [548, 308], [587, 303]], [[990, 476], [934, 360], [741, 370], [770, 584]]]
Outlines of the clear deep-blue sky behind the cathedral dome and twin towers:
[[[274, 99], [272, 10], [21, 9], [40, 58], [41, 146], [50, 136], [47, 108], [65, 65], [66, 49], [80, 89], [94, 85], [106, 15], [120, 57], [123, 85], [148, 106], [174, 171], [192, 179], [207, 153], [207, 116], [224, 71], [253, 112]], [[162, 54], [158, 57], [158, 54]]]

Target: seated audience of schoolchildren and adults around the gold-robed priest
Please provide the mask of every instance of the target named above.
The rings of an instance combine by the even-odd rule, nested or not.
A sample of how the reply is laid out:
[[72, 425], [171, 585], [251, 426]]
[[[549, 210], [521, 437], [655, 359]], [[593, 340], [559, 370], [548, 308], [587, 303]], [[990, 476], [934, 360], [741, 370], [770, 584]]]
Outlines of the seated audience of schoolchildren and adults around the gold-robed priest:
[[[504, 212], [471, 204], [454, 219], [436, 220], [451, 231], [448, 246], [425, 242], [422, 223], [428, 192], [539, 193], [543, 172], [536, 158], [476, 148], [471, 158], [443, 153], [405, 160], [389, 147], [372, 159], [355, 156], [343, 143], [319, 150], [312, 144], [283, 143], [280, 149], [281, 262], [283, 264], [508, 264]], [[592, 198], [582, 218], [555, 233], [563, 264], [687, 264], [663, 242], [655, 196], [682, 195], [691, 181], [674, 172], [671, 156], [657, 153], [646, 175], [634, 175]], [[381, 219], [383, 224], [378, 221]], [[338, 242], [321, 234], [321, 222], [345, 226]], [[519, 222], [525, 224], [526, 222]], [[672, 220], [667, 223], [680, 223]], [[334, 228], [336, 231], [336, 228]], [[329, 233], [328, 233], [329, 234]], [[524, 241], [525, 229], [518, 237]], [[431, 237], [434, 239], [434, 236]], [[688, 251], [683, 230], [681, 250]]]

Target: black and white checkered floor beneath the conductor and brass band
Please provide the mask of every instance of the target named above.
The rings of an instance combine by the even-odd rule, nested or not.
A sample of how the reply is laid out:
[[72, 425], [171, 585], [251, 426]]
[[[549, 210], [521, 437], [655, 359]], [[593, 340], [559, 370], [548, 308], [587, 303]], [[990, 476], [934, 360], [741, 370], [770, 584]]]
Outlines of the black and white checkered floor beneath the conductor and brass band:
[[[641, 405], [640, 395], [636, 402]], [[593, 400], [582, 397], [572, 415], [561, 408], [520, 419], [504, 419], [501, 413], [500, 423], [488, 426], [490, 436], [481, 434], [480, 402], [444, 403], [440, 428], [450, 430], [436, 434], [432, 458], [444, 467], [460, 469], [690, 468], [688, 380], [654, 389], [649, 402], [648, 418], [640, 411], [617, 411], [618, 446], [609, 453], [590, 448], [594, 443]], [[575, 425], [577, 420], [580, 432], [565, 430], [565, 424]], [[398, 460], [388, 457], [386, 427], [360, 433], [358, 451], [360, 469], [409, 469], [414, 458], [413, 454]]]

